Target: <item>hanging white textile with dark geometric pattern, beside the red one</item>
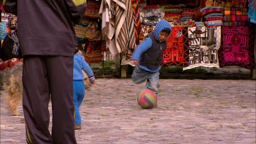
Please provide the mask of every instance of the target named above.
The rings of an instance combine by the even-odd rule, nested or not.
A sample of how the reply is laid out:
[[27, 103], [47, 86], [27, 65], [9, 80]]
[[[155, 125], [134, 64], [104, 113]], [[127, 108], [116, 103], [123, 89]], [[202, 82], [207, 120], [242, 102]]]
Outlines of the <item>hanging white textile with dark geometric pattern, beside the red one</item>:
[[219, 68], [218, 48], [221, 47], [221, 27], [189, 27], [188, 66], [183, 70], [197, 68]]

